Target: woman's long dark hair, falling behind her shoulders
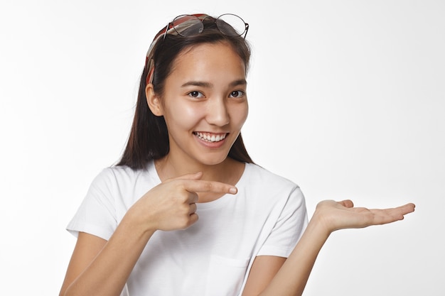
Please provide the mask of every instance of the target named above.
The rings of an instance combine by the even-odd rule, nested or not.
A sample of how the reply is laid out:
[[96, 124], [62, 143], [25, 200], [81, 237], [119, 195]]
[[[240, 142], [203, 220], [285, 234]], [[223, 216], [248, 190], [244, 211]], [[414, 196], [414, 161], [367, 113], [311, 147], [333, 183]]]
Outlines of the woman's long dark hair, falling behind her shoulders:
[[[205, 18], [204, 30], [198, 35], [183, 37], [167, 34], [165, 39], [160, 39], [152, 49], [154, 61], [154, 73], [152, 83], [156, 94], [163, 94], [166, 78], [170, 74], [173, 62], [179, 53], [194, 45], [203, 43], [227, 43], [245, 62], [246, 72], [250, 61], [250, 46], [241, 36], [228, 36], [221, 33], [215, 26], [214, 18]], [[139, 94], [136, 102], [136, 110], [127, 147], [117, 165], [127, 165], [136, 170], [146, 168], [150, 160], [162, 158], [168, 154], [168, 131], [163, 116], [155, 116], [146, 102], [146, 77], [149, 75], [151, 59], [146, 61], [144, 71], [139, 84]], [[242, 141], [241, 133], [233, 143], [228, 157], [235, 160], [253, 163]]]

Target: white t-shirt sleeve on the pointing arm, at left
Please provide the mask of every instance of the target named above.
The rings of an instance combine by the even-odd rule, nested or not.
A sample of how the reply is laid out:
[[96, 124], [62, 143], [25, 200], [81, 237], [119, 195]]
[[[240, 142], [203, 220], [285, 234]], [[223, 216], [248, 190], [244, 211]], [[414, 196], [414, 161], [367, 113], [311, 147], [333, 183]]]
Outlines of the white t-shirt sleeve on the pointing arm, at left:
[[109, 240], [117, 227], [116, 209], [114, 207], [115, 192], [114, 175], [111, 170], [100, 172], [90, 185], [79, 209], [67, 226], [71, 234], [86, 232], [102, 239]]

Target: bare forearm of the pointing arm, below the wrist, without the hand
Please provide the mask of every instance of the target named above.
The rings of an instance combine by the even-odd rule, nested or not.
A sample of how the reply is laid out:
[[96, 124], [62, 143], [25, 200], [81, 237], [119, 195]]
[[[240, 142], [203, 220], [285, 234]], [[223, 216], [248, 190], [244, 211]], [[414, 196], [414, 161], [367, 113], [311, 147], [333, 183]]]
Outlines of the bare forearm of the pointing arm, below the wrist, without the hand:
[[120, 295], [152, 234], [154, 231], [141, 231], [124, 217], [102, 251], [63, 295]]

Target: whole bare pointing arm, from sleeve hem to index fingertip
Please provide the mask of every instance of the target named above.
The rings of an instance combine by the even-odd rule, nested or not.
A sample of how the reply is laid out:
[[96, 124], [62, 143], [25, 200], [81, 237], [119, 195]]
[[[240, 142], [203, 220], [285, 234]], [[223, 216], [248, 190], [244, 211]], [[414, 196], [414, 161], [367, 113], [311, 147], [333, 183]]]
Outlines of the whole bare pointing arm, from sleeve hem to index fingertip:
[[119, 295], [156, 230], [186, 229], [198, 220], [198, 192], [237, 192], [232, 185], [201, 177], [202, 172], [183, 175], [146, 192], [127, 211], [109, 241], [80, 233], [60, 295]]

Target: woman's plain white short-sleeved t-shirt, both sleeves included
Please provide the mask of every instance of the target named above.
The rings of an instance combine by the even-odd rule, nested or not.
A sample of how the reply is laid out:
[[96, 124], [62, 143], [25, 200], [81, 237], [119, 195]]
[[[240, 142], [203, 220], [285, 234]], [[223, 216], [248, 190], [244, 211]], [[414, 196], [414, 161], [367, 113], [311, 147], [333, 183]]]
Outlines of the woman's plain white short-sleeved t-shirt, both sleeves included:
[[[104, 169], [68, 224], [68, 231], [108, 240], [129, 207], [161, 180], [146, 170]], [[197, 204], [185, 230], [156, 231], [127, 281], [130, 296], [240, 295], [256, 256], [287, 257], [307, 225], [293, 182], [246, 164], [238, 192]]]

